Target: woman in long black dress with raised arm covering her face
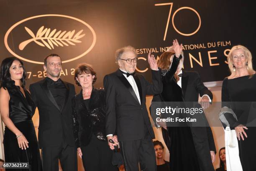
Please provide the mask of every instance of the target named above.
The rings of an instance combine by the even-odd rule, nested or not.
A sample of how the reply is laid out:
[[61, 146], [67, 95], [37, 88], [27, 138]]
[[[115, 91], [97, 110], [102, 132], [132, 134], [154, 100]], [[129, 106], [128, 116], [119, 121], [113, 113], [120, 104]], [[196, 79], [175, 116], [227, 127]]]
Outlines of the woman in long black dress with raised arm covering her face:
[[[162, 70], [163, 91], [152, 102], [184, 102], [181, 87], [177, 84], [177, 71], [182, 69], [182, 44], [177, 39], [173, 46], [161, 54], [158, 66]], [[164, 125], [162, 125], [164, 126]], [[165, 126], [164, 126], [165, 127]], [[162, 128], [163, 130], [164, 128]], [[200, 171], [190, 127], [165, 127], [163, 137], [170, 152], [171, 171]]]

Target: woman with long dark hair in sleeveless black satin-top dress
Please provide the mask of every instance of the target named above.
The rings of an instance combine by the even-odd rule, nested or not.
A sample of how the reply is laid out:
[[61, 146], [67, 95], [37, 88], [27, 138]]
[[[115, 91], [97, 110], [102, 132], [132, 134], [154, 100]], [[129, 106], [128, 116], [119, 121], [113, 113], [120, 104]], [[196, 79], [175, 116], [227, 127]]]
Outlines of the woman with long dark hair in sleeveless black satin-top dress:
[[[0, 112], [5, 123], [5, 162], [28, 162], [29, 171], [42, 171], [41, 157], [32, 122], [34, 104], [25, 88], [26, 71], [16, 57], [2, 61], [0, 67]], [[11, 170], [11, 169], [10, 169]], [[13, 169], [28, 170], [28, 169]]]

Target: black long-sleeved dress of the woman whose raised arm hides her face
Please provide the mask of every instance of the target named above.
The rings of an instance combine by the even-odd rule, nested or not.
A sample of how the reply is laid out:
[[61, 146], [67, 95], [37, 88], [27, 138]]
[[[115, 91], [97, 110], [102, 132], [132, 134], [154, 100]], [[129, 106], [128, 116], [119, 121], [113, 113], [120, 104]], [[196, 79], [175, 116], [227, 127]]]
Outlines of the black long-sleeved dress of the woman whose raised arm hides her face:
[[[183, 92], [174, 78], [179, 60], [173, 59], [168, 70], [162, 71], [163, 91], [152, 102], [184, 102]], [[168, 127], [164, 141], [170, 152], [170, 171], [200, 171], [190, 127]]]

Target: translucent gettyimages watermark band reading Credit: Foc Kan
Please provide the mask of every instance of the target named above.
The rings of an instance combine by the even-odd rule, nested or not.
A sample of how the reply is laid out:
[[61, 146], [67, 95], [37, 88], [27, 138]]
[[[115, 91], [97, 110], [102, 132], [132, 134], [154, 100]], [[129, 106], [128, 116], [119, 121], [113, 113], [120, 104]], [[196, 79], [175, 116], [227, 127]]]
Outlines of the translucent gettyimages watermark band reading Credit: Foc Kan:
[[207, 109], [200, 102], [152, 102], [150, 113], [155, 126], [256, 126], [256, 102], [212, 102]]

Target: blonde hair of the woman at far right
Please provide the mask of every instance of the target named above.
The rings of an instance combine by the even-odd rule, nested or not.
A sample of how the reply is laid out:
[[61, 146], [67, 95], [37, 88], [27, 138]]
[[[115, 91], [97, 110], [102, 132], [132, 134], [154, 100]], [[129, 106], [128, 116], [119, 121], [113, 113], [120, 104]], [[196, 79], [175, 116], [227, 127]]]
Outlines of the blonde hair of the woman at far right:
[[248, 64], [248, 73], [250, 75], [254, 74], [255, 71], [254, 71], [253, 66], [252, 66], [251, 52], [245, 46], [236, 45], [236, 46], [233, 46], [231, 48], [231, 50], [230, 50], [230, 52], [228, 54], [228, 68], [229, 68], [230, 73], [231, 73], [229, 77], [234, 77], [236, 75], [236, 71], [233, 71], [233, 57], [232, 57], [232, 53], [235, 50], [238, 50], [238, 49], [242, 49], [244, 51], [244, 53], [245, 53], [246, 61], [247, 61], [247, 64]]

